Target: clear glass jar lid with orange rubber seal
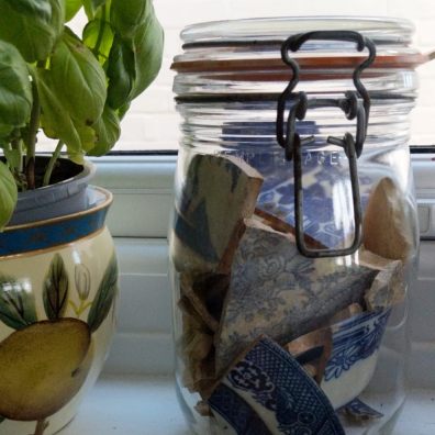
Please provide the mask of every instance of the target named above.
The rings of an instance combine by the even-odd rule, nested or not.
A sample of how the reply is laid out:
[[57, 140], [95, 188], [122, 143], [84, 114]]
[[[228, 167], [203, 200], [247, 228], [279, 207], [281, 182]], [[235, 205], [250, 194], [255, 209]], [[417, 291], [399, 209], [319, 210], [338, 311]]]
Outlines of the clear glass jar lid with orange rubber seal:
[[[232, 72], [232, 79], [245, 81], [258, 81], [258, 72], [261, 72], [261, 81], [283, 80], [289, 76], [288, 66], [280, 55], [283, 41], [298, 33], [332, 30], [356, 31], [376, 44], [377, 58], [371, 71], [375, 68], [414, 69], [430, 60], [427, 55], [411, 46], [414, 26], [408, 20], [299, 16], [191, 25], [181, 33], [185, 53], [175, 57], [172, 69], [181, 74]], [[366, 58], [365, 53], [356, 51], [355, 43], [341, 41], [310, 41], [291, 56], [302, 70], [316, 70], [317, 75], [334, 70], [334, 78], [337, 74], [348, 75], [346, 70], [352, 70]], [[337, 72], [337, 69], [344, 71]]]

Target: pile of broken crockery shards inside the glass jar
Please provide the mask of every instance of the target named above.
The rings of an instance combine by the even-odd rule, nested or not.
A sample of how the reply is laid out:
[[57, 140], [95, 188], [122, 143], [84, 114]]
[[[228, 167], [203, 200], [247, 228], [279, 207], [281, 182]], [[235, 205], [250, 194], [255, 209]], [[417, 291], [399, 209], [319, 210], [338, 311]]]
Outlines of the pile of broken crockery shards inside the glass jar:
[[[244, 160], [194, 154], [183, 167], [170, 253], [179, 272], [182, 383], [200, 395], [198, 413], [253, 434], [341, 434], [337, 409], [381, 417], [356, 398], [372, 375], [388, 314], [403, 301], [417, 243], [398, 185], [384, 177], [371, 189], [356, 254], [312, 259], [299, 254], [290, 224], [258, 207], [264, 179]], [[308, 235], [305, 243], [324, 247]], [[359, 337], [366, 347], [341, 370], [375, 358], [371, 372], [360, 366], [354, 388], [336, 382], [330, 394], [334, 337], [358, 319], [376, 319], [364, 324], [369, 343]]]

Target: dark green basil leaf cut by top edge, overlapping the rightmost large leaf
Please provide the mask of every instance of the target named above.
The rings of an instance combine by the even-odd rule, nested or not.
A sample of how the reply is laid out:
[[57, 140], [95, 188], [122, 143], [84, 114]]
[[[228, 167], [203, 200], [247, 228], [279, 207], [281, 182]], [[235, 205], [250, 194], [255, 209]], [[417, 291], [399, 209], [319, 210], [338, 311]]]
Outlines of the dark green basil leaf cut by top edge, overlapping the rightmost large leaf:
[[153, 8], [150, 0], [112, 0], [110, 22], [123, 38], [131, 38], [146, 21], [149, 8]]

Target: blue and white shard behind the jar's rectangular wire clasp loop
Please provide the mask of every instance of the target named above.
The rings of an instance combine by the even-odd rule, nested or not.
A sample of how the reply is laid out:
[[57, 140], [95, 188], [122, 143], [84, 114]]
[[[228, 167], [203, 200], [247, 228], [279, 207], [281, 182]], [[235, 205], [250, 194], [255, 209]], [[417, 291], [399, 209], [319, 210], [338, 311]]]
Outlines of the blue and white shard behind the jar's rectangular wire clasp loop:
[[[261, 154], [248, 163], [265, 177], [258, 208], [294, 225], [293, 164], [281, 154], [267, 160]], [[304, 232], [327, 247], [339, 246], [354, 232], [347, 157], [341, 152], [302, 153]], [[362, 207], [367, 203], [372, 178], [359, 176]]]

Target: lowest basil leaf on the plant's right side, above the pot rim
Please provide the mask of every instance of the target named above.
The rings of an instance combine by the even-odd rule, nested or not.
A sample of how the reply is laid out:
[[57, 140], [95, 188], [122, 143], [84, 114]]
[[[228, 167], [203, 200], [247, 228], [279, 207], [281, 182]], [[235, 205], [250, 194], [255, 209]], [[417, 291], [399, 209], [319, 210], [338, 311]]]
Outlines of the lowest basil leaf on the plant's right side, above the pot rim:
[[113, 109], [108, 105], [101, 118], [92, 125], [97, 133], [96, 146], [88, 153], [90, 156], [102, 156], [107, 154], [120, 138], [120, 119]]

